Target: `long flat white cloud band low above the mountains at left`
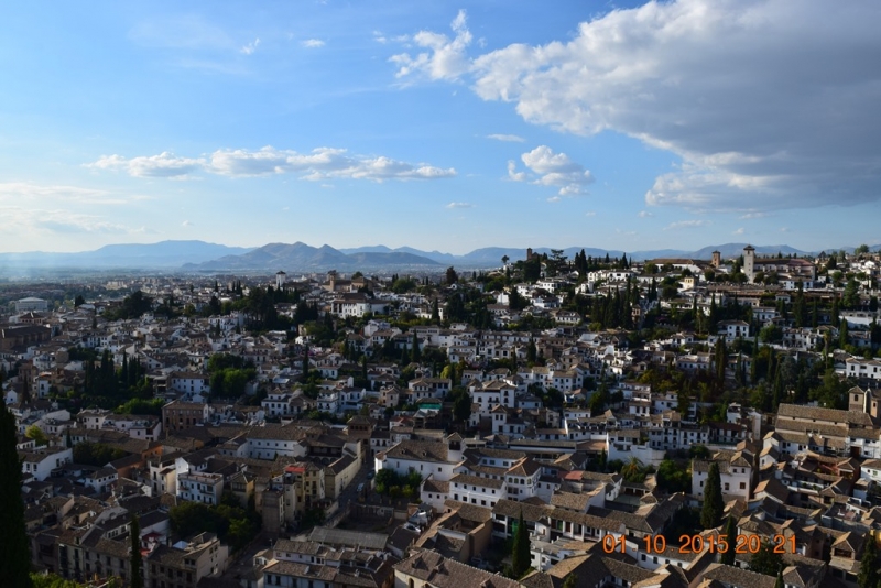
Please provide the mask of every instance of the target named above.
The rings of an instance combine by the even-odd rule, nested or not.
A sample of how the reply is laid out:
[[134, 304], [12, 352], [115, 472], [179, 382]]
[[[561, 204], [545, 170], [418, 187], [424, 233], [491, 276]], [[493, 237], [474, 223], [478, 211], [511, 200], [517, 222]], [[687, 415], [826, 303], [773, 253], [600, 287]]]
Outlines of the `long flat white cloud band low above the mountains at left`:
[[265, 146], [257, 151], [244, 149], [218, 150], [208, 157], [177, 157], [171, 153], [126, 159], [106, 155], [88, 164], [98, 170], [117, 170], [137, 177], [186, 177], [193, 172], [228, 177], [248, 177], [298, 173], [304, 179], [320, 181], [334, 177], [352, 179], [438, 179], [456, 175], [454, 168], [426, 163], [411, 164], [385, 156], [354, 156], [345, 149], [318, 148], [311, 153], [297, 153]]

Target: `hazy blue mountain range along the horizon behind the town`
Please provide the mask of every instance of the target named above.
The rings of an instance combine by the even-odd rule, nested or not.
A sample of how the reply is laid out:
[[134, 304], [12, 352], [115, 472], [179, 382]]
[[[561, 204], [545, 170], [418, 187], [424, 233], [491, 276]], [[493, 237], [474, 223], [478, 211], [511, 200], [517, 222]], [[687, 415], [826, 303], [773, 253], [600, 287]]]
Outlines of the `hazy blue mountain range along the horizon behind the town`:
[[[662, 249], [628, 252], [632, 261], [657, 258], [688, 258], [709, 260], [718, 250], [724, 259], [739, 255], [747, 243], [709, 246], [696, 251]], [[759, 255], [816, 254], [818, 251], [801, 251], [790, 246], [754, 246]], [[620, 258], [620, 250], [569, 247], [563, 254], [572, 259], [584, 249], [587, 255], [597, 258], [607, 253]], [[842, 248], [852, 251], [853, 248]], [[878, 246], [871, 248], [877, 250]], [[829, 251], [838, 249], [829, 249]], [[550, 248], [535, 248], [536, 253], [551, 254]], [[165, 270], [183, 272], [320, 272], [327, 270], [349, 271], [422, 271], [432, 272], [454, 265], [457, 269], [486, 269], [501, 265], [503, 257], [511, 262], [525, 259], [523, 248], [488, 247], [476, 249], [465, 255], [440, 251], [421, 251], [410, 247], [390, 249], [385, 246], [335, 249], [328, 244], [312, 247], [306, 243], [269, 243], [259, 248], [228, 247], [205, 241], [162, 241], [150, 244], [109, 244], [94, 251], [78, 253], [0, 253], [2, 271], [48, 270]]]

